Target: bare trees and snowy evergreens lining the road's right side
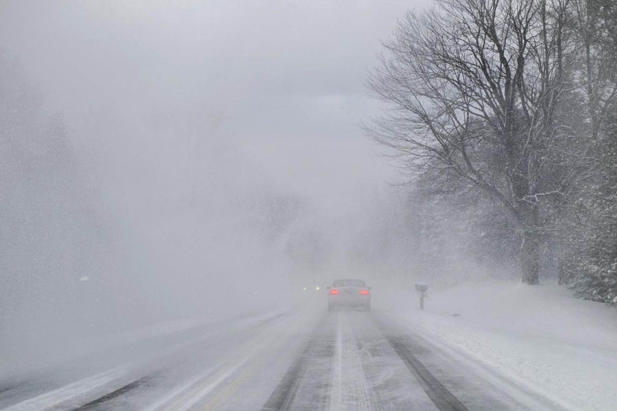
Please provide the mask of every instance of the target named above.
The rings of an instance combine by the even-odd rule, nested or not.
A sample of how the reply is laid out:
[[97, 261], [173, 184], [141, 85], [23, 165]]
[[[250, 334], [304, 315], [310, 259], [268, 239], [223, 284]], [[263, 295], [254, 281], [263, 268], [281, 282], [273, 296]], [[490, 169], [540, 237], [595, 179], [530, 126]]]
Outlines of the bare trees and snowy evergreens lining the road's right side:
[[368, 132], [417, 201], [449, 203], [470, 253], [522, 282], [617, 303], [617, 3], [438, 0], [384, 46]]

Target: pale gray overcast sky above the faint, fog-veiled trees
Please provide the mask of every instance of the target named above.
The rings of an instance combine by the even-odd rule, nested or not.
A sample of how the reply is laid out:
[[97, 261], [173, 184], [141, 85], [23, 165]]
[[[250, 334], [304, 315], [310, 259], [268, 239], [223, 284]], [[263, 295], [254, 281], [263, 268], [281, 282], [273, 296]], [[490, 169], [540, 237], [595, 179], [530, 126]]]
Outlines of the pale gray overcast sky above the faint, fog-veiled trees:
[[393, 175], [358, 127], [378, 108], [365, 80], [396, 18], [426, 3], [3, 1], [0, 47], [107, 167], [136, 166], [145, 145], [156, 161], [161, 129], [217, 134], [272, 184], [338, 209]]

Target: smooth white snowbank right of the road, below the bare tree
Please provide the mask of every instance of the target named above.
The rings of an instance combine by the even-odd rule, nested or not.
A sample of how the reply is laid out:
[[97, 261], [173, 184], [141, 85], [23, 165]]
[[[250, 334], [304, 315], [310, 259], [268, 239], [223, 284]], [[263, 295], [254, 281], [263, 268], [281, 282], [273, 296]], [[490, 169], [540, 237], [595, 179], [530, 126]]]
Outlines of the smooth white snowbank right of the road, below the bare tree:
[[[617, 310], [556, 284], [465, 284], [431, 293], [417, 332], [571, 410], [617, 410]], [[400, 310], [400, 308], [398, 308]]]

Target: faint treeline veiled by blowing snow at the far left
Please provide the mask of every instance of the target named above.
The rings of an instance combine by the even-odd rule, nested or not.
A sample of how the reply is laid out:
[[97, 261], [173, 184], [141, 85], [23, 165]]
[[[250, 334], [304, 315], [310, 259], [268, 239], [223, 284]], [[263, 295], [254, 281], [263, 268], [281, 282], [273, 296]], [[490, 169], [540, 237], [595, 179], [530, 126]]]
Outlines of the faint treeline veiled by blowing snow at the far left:
[[118, 256], [84, 174], [62, 116], [0, 51], [0, 344], [9, 368], [29, 364], [21, 355], [35, 358], [42, 340], [52, 351], [114, 326], [105, 316], [117, 307], [114, 290], [98, 277]]

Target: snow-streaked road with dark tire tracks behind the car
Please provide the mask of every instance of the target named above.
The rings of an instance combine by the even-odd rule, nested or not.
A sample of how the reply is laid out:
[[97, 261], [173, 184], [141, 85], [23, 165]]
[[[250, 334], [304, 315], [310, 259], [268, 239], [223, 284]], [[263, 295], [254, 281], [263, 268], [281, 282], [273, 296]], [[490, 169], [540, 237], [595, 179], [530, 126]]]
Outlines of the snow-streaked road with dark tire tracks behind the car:
[[380, 312], [247, 317], [57, 385], [16, 384], [0, 391], [0, 404], [4, 411], [559, 409]]

